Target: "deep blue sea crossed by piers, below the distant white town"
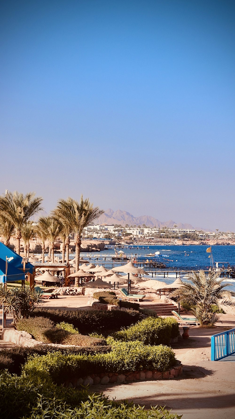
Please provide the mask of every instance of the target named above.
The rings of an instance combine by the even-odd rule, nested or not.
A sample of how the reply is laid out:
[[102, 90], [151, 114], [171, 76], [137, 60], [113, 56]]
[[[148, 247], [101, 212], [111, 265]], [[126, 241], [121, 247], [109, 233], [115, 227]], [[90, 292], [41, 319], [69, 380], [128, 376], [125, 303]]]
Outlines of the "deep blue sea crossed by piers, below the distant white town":
[[[146, 260], [150, 261], [158, 261], [163, 262], [166, 266], [169, 267], [192, 267], [192, 266], [210, 266], [210, 259], [208, 258], [209, 253], [206, 252], [208, 246], [123, 246], [121, 248], [116, 248], [117, 251], [123, 251], [126, 256], [128, 257], [135, 257], [137, 261]], [[159, 252], [159, 256], [155, 257], [148, 257], [149, 253]], [[212, 246], [212, 255], [215, 262], [223, 263], [225, 266], [227, 264], [235, 265], [235, 246]], [[80, 254], [81, 257], [84, 259], [88, 259], [88, 263], [94, 264], [101, 264], [102, 261], [107, 262], [108, 260], [112, 259], [112, 256], [115, 256], [115, 247], [109, 247], [107, 250], [101, 251], [100, 253], [86, 253], [82, 252]], [[97, 260], [98, 258], [98, 260]], [[108, 268], [111, 268], [111, 265], [105, 264]], [[179, 273], [178, 273], [179, 277]], [[149, 279], [151, 275], [148, 275]], [[181, 274], [180, 278], [182, 280], [187, 278], [187, 274]], [[165, 278], [163, 274], [156, 273], [153, 274], [153, 279], [157, 279], [158, 281], [166, 282], [167, 284], [171, 284], [176, 279], [176, 273], [171, 272], [169, 273], [168, 277]], [[224, 279], [225, 282], [227, 278]], [[229, 280], [229, 289], [235, 292], [235, 279]]]

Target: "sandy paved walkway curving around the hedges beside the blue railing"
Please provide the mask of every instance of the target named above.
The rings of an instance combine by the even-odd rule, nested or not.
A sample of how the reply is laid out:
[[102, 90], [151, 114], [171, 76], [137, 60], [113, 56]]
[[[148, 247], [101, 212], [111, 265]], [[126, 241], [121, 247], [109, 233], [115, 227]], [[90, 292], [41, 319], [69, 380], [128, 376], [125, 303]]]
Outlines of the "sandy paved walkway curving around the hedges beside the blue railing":
[[[227, 326], [225, 326], [227, 324]], [[184, 370], [174, 380], [145, 381], [92, 386], [110, 398], [128, 398], [150, 407], [166, 406], [182, 419], [233, 419], [235, 417], [235, 363], [210, 361], [210, 336], [235, 327], [234, 318], [223, 315], [214, 329], [190, 328], [190, 338], [174, 344], [176, 358]], [[182, 333], [181, 329], [181, 333]]]

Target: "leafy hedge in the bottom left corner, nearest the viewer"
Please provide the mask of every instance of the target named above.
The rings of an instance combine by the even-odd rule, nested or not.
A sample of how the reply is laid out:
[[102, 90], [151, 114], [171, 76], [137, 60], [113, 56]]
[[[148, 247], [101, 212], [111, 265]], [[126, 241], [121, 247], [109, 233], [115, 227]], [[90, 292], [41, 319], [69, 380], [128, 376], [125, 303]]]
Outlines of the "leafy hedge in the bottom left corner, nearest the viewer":
[[28, 376], [0, 375], [0, 412], [4, 419], [180, 419], [159, 408], [149, 410], [127, 402], [111, 401], [87, 390], [56, 386], [47, 381], [33, 381]]

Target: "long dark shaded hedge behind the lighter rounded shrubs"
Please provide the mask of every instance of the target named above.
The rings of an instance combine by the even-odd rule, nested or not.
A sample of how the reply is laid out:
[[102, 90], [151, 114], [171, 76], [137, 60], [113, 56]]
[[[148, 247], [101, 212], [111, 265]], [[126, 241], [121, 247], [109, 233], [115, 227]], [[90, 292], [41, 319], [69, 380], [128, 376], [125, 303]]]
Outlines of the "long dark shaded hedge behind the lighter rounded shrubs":
[[79, 333], [104, 332], [120, 330], [128, 327], [141, 319], [141, 313], [135, 310], [45, 310], [37, 309], [33, 317], [49, 318], [54, 323], [64, 321], [72, 324]]

